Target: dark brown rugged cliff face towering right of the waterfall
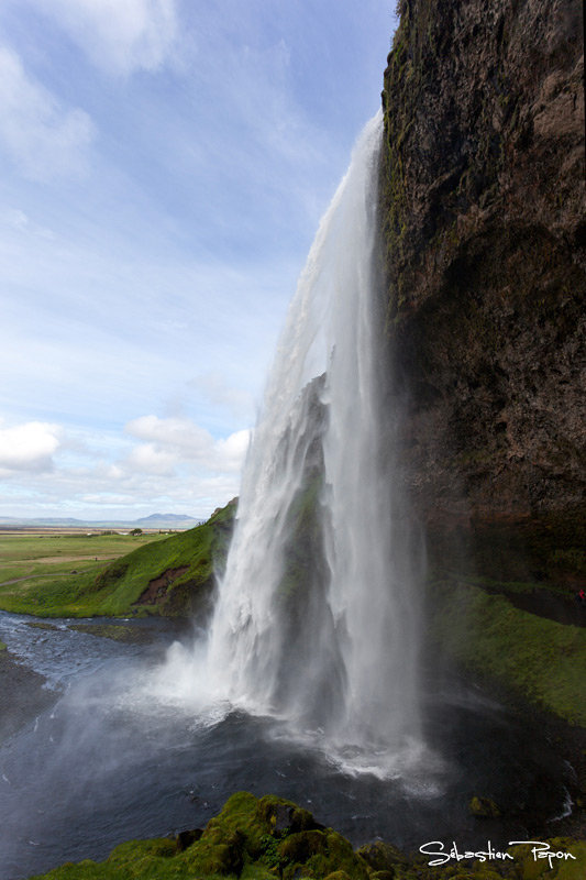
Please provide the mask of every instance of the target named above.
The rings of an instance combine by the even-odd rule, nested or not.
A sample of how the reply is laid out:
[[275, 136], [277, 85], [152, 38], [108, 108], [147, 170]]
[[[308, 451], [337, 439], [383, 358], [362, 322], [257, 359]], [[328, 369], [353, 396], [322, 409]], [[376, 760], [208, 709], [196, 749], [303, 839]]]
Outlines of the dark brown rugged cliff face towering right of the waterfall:
[[[400, 6], [380, 230], [414, 506], [436, 547], [456, 525], [472, 536], [486, 573], [575, 584], [586, 576], [582, 4]], [[527, 572], [510, 570], [519, 548]]]

